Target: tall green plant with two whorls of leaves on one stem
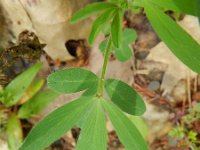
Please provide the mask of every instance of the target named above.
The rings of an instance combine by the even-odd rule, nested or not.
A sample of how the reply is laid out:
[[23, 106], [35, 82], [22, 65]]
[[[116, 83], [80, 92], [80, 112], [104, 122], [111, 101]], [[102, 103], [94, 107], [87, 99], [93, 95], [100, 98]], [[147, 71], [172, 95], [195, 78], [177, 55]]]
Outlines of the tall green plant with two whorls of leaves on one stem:
[[[147, 145], [135, 125], [124, 114], [142, 115], [146, 108], [139, 94], [120, 80], [105, 79], [110, 51], [126, 61], [131, 56], [129, 44], [135, 40], [135, 33], [122, 30], [123, 14], [126, 10], [144, 7], [144, 11], [155, 31], [172, 52], [192, 70], [200, 73], [200, 46], [163, 10], [196, 15], [194, 1], [180, 0], [111, 0], [86, 6], [71, 19], [72, 23], [93, 14], [100, 14], [94, 21], [89, 36], [93, 44], [98, 34], [111, 24], [108, 39], [100, 48], [104, 53], [104, 63], [100, 79], [90, 71], [71, 68], [57, 71], [48, 77], [48, 85], [61, 93], [83, 92], [82, 96], [50, 113], [30, 132], [20, 150], [39, 150], [58, 139], [73, 126], [81, 128], [76, 149], [106, 149], [106, 118], [108, 114], [121, 142], [127, 150], [146, 150]], [[128, 40], [123, 40], [123, 32], [128, 32]], [[132, 33], [131, 33], [132, 32]], [[131, 35], [132, 34], [132, 35]], [[104, 97], [104, 88], [110, 100]]]

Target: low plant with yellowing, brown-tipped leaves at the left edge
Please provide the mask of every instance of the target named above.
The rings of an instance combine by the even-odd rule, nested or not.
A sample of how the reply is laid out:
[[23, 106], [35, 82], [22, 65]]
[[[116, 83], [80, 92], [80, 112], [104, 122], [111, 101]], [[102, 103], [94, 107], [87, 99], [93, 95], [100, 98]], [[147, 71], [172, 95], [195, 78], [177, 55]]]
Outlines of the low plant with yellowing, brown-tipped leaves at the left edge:
[[41, 68], [36, 64], [29, 68], [0, 92], [0, 126], [1, 133], [6, 132], [10, 150], [16, 150], [23, 140], [20, 119], [28, 119], [39, 113], [48, 103], [54, 100], [58, 93], [52, 90], [39, 92], [44, 80], [34, 77]]

